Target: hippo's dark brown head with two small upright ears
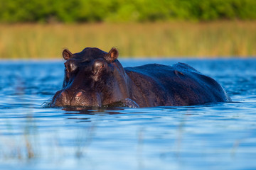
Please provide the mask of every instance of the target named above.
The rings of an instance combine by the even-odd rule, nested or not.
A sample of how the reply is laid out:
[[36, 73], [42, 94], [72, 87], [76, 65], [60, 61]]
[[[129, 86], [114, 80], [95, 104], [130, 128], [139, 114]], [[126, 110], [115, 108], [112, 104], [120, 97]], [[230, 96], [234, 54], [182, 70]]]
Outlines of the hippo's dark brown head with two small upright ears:
[[128, 98], [127, 74], [117, 60], [118, 51], [87, 47], [82, 52], [63, 50], [66, 60], [63, 87], [51, 106], [102, 107]]

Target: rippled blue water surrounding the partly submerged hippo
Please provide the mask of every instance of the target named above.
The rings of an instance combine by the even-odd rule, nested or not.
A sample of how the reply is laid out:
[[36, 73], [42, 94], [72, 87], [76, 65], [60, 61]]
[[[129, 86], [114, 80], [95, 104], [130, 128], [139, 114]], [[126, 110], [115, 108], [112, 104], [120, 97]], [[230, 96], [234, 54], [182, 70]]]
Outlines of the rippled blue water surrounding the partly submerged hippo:
[[186, 62], [234, 103], [68, 111], [41, 108], [63, 61], [1, 61], [0, 169], [256, 169], [256, 60]]

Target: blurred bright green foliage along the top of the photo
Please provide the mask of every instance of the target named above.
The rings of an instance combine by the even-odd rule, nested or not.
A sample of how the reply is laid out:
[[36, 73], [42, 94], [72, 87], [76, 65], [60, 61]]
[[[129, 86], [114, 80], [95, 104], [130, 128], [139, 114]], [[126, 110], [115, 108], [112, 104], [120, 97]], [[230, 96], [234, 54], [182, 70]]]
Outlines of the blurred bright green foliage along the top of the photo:
[[0, 0], [1, 23], [256, 19], [255, 0]]

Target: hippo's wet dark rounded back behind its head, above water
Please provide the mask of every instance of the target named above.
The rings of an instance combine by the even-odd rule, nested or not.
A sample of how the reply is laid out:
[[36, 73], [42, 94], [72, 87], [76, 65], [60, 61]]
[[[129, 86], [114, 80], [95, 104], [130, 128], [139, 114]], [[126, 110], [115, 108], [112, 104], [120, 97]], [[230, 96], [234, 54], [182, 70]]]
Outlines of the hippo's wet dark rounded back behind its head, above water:
[[189, 106], [230, 101], [220, 84], [188, 64], [146, 64], [124, 70], [138, 87], [146, 106]]

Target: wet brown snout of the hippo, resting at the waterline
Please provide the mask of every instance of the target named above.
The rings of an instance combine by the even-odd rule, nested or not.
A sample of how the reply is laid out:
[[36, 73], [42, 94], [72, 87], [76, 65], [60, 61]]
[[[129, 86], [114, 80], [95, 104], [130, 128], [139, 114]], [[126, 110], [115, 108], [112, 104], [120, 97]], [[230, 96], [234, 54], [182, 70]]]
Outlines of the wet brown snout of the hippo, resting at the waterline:
[[71, 92], [68, 90], [62, 90], [62, 91], [58, 91], [58, 93], [56, 93], [56, 95], [53, 97], [52, 106], [101, 107], [102, 102], [101, 102], [100, 94], [98, 94], [96, 91], [87, 92], [84, 90], [78, 90], [75, 92]]

